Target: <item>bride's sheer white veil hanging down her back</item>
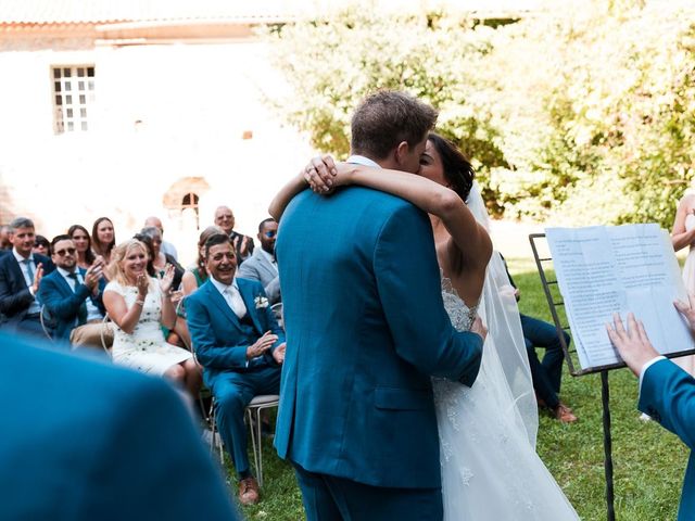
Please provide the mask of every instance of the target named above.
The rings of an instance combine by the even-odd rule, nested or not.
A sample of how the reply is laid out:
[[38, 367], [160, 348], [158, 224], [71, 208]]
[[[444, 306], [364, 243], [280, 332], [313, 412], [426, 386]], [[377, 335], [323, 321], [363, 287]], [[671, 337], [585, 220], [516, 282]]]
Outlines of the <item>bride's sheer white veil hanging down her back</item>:
[[[476, 220], [490, 231], [490, 217], [477, 183], [466, 204]], [[535, 447], [539, 416], [519, 308], [504, 262], [496, 251], [488, 264], [478, 314], [489, 331], [483, 350], [495, 350], [509, 386], [509, 403], [500, 404], [503, 409], [500, 412], [514, 415], [518, 427], [526, 431], [531, 446]]]

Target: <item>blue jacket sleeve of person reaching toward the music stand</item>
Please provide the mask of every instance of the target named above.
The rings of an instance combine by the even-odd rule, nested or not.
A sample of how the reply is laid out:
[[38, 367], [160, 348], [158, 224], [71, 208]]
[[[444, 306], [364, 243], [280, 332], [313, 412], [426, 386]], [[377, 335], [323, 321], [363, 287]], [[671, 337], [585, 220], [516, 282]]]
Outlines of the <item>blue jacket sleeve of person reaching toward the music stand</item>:
[[[642, 377], [640, 410], [695, 448], [695, 379], [670, 360], [649, 366]], [[683, 482], [679, 521], [695, 519], [695, 459], [691, 455]]]

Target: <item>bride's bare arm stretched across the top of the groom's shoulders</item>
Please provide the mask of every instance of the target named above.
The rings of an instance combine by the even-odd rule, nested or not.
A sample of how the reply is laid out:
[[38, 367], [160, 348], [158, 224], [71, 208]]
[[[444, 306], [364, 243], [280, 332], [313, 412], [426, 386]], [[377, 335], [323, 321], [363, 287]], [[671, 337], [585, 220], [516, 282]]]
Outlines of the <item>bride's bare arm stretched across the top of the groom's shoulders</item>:
[[492, 241], [456, 192], [414, 174], [348, 163], [334, 164], [336, 174], [331, 175], [328, 169], [333, 167], [332, 160], [326, 163], [324, 170], [313, 162], [316, 173], [307, 173], [312, 189], [325, 192], [342, 185], [359, 185], [403, 198], [441, 218], [466, 268], [480, 268], [484, 272], [492, 255]]

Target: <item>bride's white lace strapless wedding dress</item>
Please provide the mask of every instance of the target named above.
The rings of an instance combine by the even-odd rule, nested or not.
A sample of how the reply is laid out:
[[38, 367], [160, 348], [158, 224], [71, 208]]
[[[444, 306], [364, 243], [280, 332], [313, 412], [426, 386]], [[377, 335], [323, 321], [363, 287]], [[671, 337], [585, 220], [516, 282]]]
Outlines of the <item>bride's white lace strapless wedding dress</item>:
[[[442, 295], [454, 327], [459, 331], [469, 330], [477, 307], [468, 308], [444, 278]], [[486, 322], [484, 317], [483, 321]], [[523, 406], [520, 407], [519, 397], [510, 389], [514, 382], [509, 383], [510, 373], [497, 353], [506, 348], [502, 343], [497, 339], [495, 345], [495, 332], [491, 328], [472, 387], [433, 380], [444, 519], [579, 519], [535, 454], [533, 420], [525, 417]], [[504, 357], [508, 356], [505, 353]], [[528, 361], [526, 364], [528, 366]], [[535, 418], [534, 415], [535, 410], [533, 416], [527, 414], [531, 418]], [[535, 422], [538, 424], [538, 419]]]

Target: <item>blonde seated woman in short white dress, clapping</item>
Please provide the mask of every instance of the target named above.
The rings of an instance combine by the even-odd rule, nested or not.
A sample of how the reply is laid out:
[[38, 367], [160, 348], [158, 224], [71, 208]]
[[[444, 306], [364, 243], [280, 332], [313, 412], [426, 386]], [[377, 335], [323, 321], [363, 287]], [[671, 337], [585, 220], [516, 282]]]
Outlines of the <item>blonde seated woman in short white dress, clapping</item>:
[[164, 376], [185, 386], [193, 397], [201, 385], [201, 371], [190, 352], [166, 343], [162, 326], [170, 327], [176, 309], [170, 301], [174, 267], [157, 280], [147, 274], [148, 253], [137, 239], [118, 244], [112, 252], [103, 301], [116, 326], [113, 361], [149, 374]]

